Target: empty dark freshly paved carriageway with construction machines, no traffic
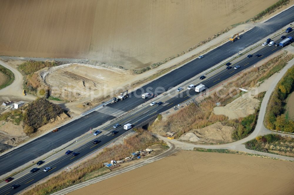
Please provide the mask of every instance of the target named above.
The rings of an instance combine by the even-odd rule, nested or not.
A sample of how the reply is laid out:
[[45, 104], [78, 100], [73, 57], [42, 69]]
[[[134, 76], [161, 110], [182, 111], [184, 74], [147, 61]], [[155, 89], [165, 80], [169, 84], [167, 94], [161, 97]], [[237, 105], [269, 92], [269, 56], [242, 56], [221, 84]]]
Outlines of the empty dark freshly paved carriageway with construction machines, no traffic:
[[[188, 64], [158, 78], [155, 81], [143, 86], [141, 90], [137, 90], [134, 93], [138, 94], [138, 97], [134, 96], [134, 93], [130, 94], [130, 97], [126, 100], [120, 101], [113, 105], [109, 105], [109, 107], [113, 107], [119, 110], [128, 111], [132, 108], [142, 104], [143, 102], [148, 101], [148, 99], [142, 99], [140, 95], [142, 91], [148, 92], [148, 88], [150, 88], [150, 92], [156, 94], [156, 87], [162, 87], [164, 90], [168, 90], [184, 81], [192, 78], [205, 71], [206, 69], [218, 64], [220, 61], [231, 57], [233, 54], [238, 53], [242, 49], [252, 45], [253, 43], [259, 41], [260, 39], [266, 37], [267, 35], [274, 33], [279, 30], [283, 26], [288, 23], [294, 21], [294, 7], [288, 9], [280, 13], [279, 15], [271, 18], [267, 22], [262, 25], [253, 28], [252, 30], [244, 33], [239, 40], [235, 42], [228, 42], [211, 52], [207, 53], [202, 59], [195, 59]], [[278, 47], [278, 49], [280, 49]], [[275, 49], [273, 52], [277, 51]], [[265, 54], [263, 54], [265, 55]], [[258, 60], [257, 58], [249, 59], [249, 60]], [[249, 66], [249, 65], [248, 65]], [[210, 81], [213, 84], [219, 83], [225, 78], [233, 76], [233, 74], [242, 70], [242, 68], [237, 69], [235, 72], [231, 74], [224, 74], [221, 76], [219, 81]], [[228, 72], [228, 71], [227, 71]], [[208, 87], [212, 83], [207, 83]], [[160, 92], [162, 93], [162, 92]], [[157, 94], [158, 95], [158, 94]], [[183, 101], [183, 99], [179, 100]], [[23, 165], [24, 163], [29, 162], [32, 159], [37, 158], [38, 156], [53, 150], [56, 147], [61, 146], [62, 144], [82, 135], [83, 133], [89, 131], [90, 127], [94, 128], [103, 124], [104, 122], [114, 118], [113, 116], [102, 114], [100, 112], [92, 112], [84, 117], [81, 117], [78, 120], [75, 120], [65, 126], [62, 126], [60, 130], [56, 133], [46, 134], [20, 148], [17, 148], [3, 156], [0, 157], [0, 174], [4, 174], [9, 172], [16, 167]]]

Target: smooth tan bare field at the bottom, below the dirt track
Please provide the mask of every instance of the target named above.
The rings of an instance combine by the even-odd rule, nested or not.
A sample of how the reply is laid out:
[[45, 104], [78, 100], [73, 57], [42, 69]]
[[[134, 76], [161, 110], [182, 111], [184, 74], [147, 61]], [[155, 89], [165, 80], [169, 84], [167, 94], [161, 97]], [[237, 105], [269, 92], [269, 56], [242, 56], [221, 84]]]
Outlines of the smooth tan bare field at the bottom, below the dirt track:
[[293, 162], [182, 150], [69, 194], [293, 194], [293, 171]]

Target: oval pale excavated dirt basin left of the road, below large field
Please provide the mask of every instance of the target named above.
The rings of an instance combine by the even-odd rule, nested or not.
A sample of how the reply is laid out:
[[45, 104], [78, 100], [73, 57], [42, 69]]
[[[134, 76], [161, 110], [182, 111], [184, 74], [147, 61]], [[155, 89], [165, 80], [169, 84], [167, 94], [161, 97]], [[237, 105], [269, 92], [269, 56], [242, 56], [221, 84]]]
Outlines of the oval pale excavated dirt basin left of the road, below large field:
[[88, 64], [64, 64], [41, 72], [51, 94], [63, 100], [114, 96], [135, 77], [129, 71]]

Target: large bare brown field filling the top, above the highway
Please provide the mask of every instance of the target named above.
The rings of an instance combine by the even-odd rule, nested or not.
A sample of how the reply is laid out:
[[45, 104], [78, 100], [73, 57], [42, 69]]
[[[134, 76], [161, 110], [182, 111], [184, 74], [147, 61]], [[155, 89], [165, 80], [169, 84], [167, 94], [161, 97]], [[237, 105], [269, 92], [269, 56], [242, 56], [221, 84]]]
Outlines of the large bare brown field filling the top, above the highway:
[[0, 55], [88, 58], [138, 69], [276, 1], [0, 0]]

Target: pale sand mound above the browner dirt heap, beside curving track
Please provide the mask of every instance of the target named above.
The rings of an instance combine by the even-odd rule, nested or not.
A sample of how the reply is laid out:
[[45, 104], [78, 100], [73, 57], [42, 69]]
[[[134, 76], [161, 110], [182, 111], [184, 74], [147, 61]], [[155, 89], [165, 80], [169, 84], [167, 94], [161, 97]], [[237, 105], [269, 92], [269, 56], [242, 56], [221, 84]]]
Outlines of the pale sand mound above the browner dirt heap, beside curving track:
[[258, 108], [259, 102], [259, 100], [244, 94], [225, 106], [215, 107], [213, 112], [214, 114], [223, 114], [229, 119], [238, 119], [253, 114]]

